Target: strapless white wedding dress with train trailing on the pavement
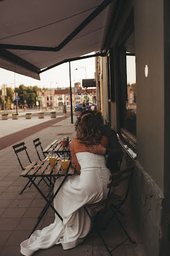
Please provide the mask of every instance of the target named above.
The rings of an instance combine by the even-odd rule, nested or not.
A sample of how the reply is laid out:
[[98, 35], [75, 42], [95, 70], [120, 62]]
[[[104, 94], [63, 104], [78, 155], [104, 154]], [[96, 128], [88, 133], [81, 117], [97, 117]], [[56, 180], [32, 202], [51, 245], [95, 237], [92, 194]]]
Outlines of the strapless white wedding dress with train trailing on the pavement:
[[[60, 243], [67, 250], [77, 246], [88, 235], [91, 222], [83, 206], [107, 197], [107, 184], [111, 173], [102, 155], [79, 152], [76, 156], [81, 166], [81, 174], [75, 173], [68, 177], [54, 199], [54, 207], [63, 222], [55, 214], [54, 223], [41, 231], [35, 231], [29, 239], [21, 243], [21, 254], [29, 256], [39, 249], [47, 249]], [[63, 177], [55, 181], [54, 192], [62, 179]]]

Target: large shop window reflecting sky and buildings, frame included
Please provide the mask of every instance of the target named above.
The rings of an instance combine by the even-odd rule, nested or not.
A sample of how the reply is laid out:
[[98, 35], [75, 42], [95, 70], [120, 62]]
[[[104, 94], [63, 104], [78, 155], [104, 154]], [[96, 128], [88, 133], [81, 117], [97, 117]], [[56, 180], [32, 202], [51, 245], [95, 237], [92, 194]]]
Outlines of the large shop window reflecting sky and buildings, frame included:
[[119, 138], [136, 152], [137, 149], [137, 90], [134, 41], [134, 12], [129, 18], [114, 46], [114, 81], [116, 116]]

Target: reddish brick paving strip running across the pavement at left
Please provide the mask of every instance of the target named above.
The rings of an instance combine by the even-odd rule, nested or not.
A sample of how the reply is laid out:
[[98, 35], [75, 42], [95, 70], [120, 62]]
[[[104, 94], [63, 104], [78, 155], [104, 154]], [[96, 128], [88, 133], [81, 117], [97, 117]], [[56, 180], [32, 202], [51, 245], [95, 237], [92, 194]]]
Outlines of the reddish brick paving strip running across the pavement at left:
[[17, 131], [16, 133], [9, 134], [5, 137], [2, 137], [0, 138], [0, 150], [2, 150], [3, 148], [7, 148], [10, 145], [13, 145], [14, 143], [17, 143], [20, 140], [24, 140], [24, 138], [27, 138], [28, 136], [31, 136], [37, 133], [38, 131], [46, 129], [47, 127], [52, 126], [55, 123], [58, 123], [64, 119], [64, 116], [62, 116], [61, 118], [55, 118], [53, 120], [40, 123], [39, 125], [35, 125], [24, 130]]

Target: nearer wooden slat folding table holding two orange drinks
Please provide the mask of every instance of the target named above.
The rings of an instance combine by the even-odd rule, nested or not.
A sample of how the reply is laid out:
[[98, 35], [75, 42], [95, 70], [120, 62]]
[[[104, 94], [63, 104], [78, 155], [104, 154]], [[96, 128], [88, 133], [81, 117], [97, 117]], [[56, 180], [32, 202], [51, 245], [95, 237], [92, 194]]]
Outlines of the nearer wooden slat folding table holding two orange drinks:
[[[52, 206], [52, 201], [54, 200], [55, 196], [58, 194], [58, 192], [61, 189], [64, 182], [66, 181], [66, 178], [70, 175], [73, 175], [73, 174], [74, 174], [74, 168], [73, 168], [73, 166], [71, 166], [71, 161], [70, 160], [69, 160], [69, 167], [67, 169], [63, 169], [63, 170], [62, 170], [60, 160], [58, 162], [56, 162], [56, 164], [50, 165], [50, 162], [47, 159], [45, 161], [43, 160], [43, 161], [33, 162], [33, 163], [29, 164], [29, 166], [27, 166], [27, 168], [24, 171], [22, 171], [20, 176], [27, 177], [29, 179], [29, 181], [31, 181], [31, 183], [36, 187], [37, 191], [39, 191], [41, 196], [43, 196], [43, 198], [47, 202], [43, 211], [39, 215], [39, 220], [37, 221], [37, 224], [33, 228], [29, 237], [36, 230], [37, 226], [39, 225], [41, 219], [43, 218], [44, 214], [46, 213], [46, 211], [48, 210], [49, 207], [51, 207], [52, 210], [62, 220], [61, 215], [59, 215], [59, 213]], [[61, 181], [61, 184], [59, 185], [59, 188], [56, 190], [55, 194], [51, 196], [51, 192], [54, 189], [55, 178], [58, 178], [58, 177], [61, 177], [61, 176], [64, 176], [64, 178]], [[40, 188], [39, 186], [37, 186], [37, 184], [34, 182], [36, 177], [41, 177], [41, 178], [43, 178], [43, 180], [44, 180], [44, 178], [47, 178], [47, 180], [49, 181], [49, 183], [50, 183], [49, 184], [49, 193], [48, 193], [48, 195], [50, 195], [49, 199], [48, 199], [48, 196], [44, 195], [43, 189]]]

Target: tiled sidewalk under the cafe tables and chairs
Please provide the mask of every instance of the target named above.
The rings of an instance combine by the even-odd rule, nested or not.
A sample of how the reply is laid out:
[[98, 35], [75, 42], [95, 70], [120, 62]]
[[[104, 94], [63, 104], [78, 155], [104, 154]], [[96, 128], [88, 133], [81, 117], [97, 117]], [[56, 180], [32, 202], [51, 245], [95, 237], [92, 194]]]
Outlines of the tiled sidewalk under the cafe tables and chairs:
[[[18, 133], [21, 133], [21, 131]], [[70, 117], [57, 123], [51, 123], [48, 127], [41, 127], [41, 130], [35, 130], [32, 134], [25, 137], [24, 140], [17, 141], [17, 143], [22, 141], [25, 142], [29, 156], [33, 161], [37, 160], [37, 154], [32, 142], [35, 138], [39, 137], [43, 148], [45, 148], [50, 142], [65, 135], [68, 135], [70, 138], [75, 137], [74, 124], [70, 123]], [[22, 156], [22, 160], [25, 162], [25, 165], [27, 165], [28, 162], [24, 155]], [[27, 178], [19, 176], [21, 168], [16, 155], [14, 154], [12, 145], [9, 145], [9, 147], [0, 151], [0, 166], [0, 255], [20, 256], [20, 243], [27, 239], [46, 202], [41, 198], [41, 195], [39, 195], [33, 186], [26, 189], [22, 195], [18, 195], [24, 184], [27, 182]], [[120, 246], [115, 250], [114, 255], [146, 256], [135, 229], [133, 215], [131, 215], [130, 209], [130, 206], [127, 204], [126, 208], [124, 208], [126, 217], [124, 217], [123, 222], [137, 244], [131, 244], [127, 241], [123, 246]], [[38, 229], [50, 225], [53, 221], [54, 213], [51, 210], [48, 210], [46, 217], [41, 220]], [[113, 221], [109, 226], [108, 231], [105, 232], [104, 237], [107, 238], [109, 247], [114, 247], [115, 244], [124, 239], [124, 234], [120, 232], [119, 225]], [[33, 255], [106, 256], [108, 253], [100, 238], [92, 232], [92, 235], [89, 235], [88, 239], [86, 239], [82, 245], [71, 250], [64, 251], [62, 246], [59, 245], [51, 247], [48, 250], [39, 250]]]

